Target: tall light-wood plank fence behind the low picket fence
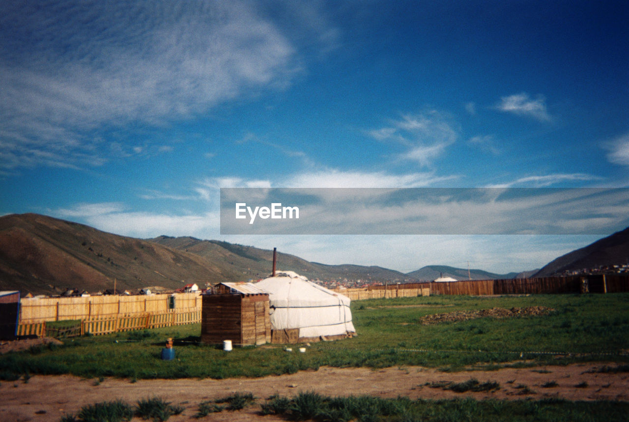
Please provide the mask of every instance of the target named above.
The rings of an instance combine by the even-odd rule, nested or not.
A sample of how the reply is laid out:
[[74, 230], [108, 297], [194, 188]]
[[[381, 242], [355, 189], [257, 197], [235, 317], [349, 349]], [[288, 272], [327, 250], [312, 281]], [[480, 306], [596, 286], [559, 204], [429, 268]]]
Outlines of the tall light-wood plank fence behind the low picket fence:
[[131, 296], [46, 297], [20, 299], [19, 322], [27, 324], [69, 319], [160, 314], [172, 309], [201, 310], [198, 293]]

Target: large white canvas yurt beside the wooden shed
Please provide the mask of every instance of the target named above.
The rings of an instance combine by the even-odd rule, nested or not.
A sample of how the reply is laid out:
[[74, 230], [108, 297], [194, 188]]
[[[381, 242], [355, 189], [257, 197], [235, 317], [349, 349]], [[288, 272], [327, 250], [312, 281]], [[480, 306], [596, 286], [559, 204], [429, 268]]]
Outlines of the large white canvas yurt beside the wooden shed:
[[350, 298], [293, 271], [255, 283], [269, 293], [272, 343], [331, 340], [356, 334]]

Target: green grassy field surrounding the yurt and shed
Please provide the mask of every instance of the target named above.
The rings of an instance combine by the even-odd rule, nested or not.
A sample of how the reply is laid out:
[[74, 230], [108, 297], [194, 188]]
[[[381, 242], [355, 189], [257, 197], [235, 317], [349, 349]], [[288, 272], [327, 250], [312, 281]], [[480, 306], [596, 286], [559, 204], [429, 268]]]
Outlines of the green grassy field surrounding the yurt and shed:
[[[530, 306], [554, 311], [547, 316], [420, 322], [428, 314]], [[313, 343], [308, 353], [287, 353], [281, 345], [225, 352], [200, 345], [200, 326], [192, 324], [82, 336], [65, 339], [63, 346], [7, 353], [0, 356], [0, 379], [34, 374], [223, 379], [292, 374], [321, 365], [459, 370], [476, 363], [484, 368], [525, 365], [524, 360], [526, 364], [629, 362], [629, 294], [378, 299], [354, 301], [352, 312], [357, 337]], [[160, 351], [169, 337], [175, 339], [176, 358], [162, 361]]]

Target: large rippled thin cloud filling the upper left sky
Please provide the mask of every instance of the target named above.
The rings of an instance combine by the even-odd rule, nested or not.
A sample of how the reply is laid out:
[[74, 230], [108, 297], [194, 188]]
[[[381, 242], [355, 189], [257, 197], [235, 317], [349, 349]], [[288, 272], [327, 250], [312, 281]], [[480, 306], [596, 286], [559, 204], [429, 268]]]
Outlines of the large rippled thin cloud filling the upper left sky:
[[248, 2], [3, 4], [5, 170], [102, 163], [94, 130], [185, 118], [286, 84], [298, 66], [291, 43]]

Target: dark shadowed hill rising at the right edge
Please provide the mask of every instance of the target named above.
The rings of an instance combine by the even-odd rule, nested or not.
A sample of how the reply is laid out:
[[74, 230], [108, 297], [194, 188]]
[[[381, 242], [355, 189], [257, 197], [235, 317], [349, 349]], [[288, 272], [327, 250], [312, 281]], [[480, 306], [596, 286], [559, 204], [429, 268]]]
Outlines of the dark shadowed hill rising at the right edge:
[[579, 271], [627, 263], [629, 263], [629, 227], [554, 259], [543, 266], [533, 277], [547, 277], [564, 271]]

